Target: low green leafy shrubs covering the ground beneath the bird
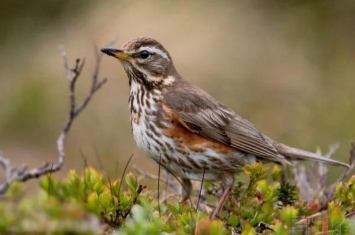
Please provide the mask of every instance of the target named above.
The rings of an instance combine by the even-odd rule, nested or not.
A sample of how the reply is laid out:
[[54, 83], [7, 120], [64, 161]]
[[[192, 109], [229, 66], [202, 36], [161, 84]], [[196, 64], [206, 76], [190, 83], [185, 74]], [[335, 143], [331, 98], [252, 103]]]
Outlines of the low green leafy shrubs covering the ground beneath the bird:
[[[336, 198], [313, 216], [310, 204], [299, 199], [298, 188], [280, 183], [277, 166], [270, 170], [255, 163], [244, 172], [249, 180], [236, 182], [213, 221], [196, 205], [179, 203], [178, 195], [158, 202], [155, 191], [139, 184], [131, 172], [122, 179], [109, 179], [90, 167], [83, 175], [70, 171], [64, 180], [49, 174], [40, 181], [38, 195], [30, 198], [25, 186], [15, 182], [0, 199], [0, 233], [284, 235], [308, 229], [308, 234], [317, 234], [325, 229], [324, 218], [327, 231], [334, 234], [354, 229], [346, 216], [355, 210], [355, 176], [338, 183]], [[210, 185], [205, 187], [208, 191]]]

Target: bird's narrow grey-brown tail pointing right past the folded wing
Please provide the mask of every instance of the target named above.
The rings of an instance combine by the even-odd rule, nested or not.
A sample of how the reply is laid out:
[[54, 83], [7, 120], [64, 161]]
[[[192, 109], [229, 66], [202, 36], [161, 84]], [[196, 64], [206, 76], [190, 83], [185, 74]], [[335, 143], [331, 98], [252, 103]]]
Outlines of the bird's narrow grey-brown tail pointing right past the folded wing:
[[307, 160], [307, 161], [319, 161], [324, 162], [326, 164], [334, 165], [334, 166], [342, 166], [346, 167], [347, 169], [350, 168], [349, 164], [344, 162], [340, 162], [316, 153], [308, 152], [302, 149], [292, 148], [285, 144], [277, 143], [273, 141], [273, 145], [277, 149], [277, 151], [283, 155], [287, 160]]

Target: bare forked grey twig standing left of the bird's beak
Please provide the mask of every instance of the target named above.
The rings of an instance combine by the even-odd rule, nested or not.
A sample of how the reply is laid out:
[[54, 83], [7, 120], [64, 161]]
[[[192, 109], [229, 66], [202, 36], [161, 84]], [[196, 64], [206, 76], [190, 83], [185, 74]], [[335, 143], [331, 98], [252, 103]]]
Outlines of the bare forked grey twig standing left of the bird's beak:
[[62, 168], [65, 161], [65, 152], [64, 152], [65, 140], [73, 124], [73, 121], [86, 108], [93, 95], [107, 82], [106, 78], [102, 79], [101, 81], [98, 80], [101, 55], [99, 54], [98, 51], [96, 51], [96, 66], [92, 76], [92, 84], [91, 84], [90, 92], [85, 97], [84, 101], [77, 106], [76, 97], [75, 97], [75, 85], [84, 67], [85, 60], [77, 59], [75, 67], [71, 69], [68, 64], [68, 58], [64, 47], [60, 46], [59, 49], [61, 51], [61, 55], [64, 63], [66, 79], [69, 82], [70, 111], [69, 111], [69, 117], [67, 118], [62, 128], [62, 131], [59, 134], [59, 137], [57, 139], [58, 161], [54, 164], [50, 164], [46, 162], [40, 167], [28, 170], [26, 165], [23, 165], [20, 168], [12, 167], [10, 165], [10, 161], [6, 159], [4, 156], [2, 156], [2, 154], [0, 153], [0, 165], [5, 170], [5, 181], [0, 184], [0, 195], [4, 194], [9, 188], [10, 184], [14, 181], [25, 182], [27, 180], [38, 178], [48, 173], [59, 171]]

